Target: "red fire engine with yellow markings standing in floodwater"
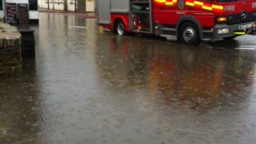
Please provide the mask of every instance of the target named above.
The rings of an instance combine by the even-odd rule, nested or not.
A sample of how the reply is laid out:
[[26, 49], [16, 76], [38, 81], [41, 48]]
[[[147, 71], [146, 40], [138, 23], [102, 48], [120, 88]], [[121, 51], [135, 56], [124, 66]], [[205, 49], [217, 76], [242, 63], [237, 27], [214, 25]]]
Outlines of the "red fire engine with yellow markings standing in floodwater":
[[188, 45], [255, 34], [256, 0], [98, 0], [98, 24], [114, 33], [173, 37]]

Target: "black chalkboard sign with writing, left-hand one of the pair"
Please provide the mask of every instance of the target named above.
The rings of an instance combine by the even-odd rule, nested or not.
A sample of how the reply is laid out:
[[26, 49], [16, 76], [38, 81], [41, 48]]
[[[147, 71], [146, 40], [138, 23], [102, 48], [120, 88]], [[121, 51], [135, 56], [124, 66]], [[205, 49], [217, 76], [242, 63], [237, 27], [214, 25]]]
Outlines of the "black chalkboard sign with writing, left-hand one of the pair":
[[17, 7], [16, 3], [6, 3], [6, 20], [8, 24], [17, 24]]

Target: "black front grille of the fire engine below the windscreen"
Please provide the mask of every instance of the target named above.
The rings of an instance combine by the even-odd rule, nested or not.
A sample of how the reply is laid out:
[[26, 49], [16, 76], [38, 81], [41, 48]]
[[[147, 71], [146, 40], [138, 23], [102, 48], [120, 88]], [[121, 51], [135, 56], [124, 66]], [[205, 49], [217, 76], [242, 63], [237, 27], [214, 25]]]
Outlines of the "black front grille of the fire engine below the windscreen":
[[241, 18], [241, 15], [230, 15], [227, 17], [227, 24], [238, 24], [238, 23], [245, 23], [245, 22], [252, 22], [256, 20], [255, 13], [247, 13], [247, 17], [245, 19]]

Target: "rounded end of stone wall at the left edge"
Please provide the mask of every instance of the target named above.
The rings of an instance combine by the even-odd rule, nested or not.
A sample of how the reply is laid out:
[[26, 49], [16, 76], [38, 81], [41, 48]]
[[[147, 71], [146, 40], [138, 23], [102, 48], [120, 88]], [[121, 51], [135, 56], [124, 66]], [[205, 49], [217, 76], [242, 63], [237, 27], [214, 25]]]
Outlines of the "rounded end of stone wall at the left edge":
[[0, 23], [0, 79], [22, 72], [22, 35], [17, 28]]

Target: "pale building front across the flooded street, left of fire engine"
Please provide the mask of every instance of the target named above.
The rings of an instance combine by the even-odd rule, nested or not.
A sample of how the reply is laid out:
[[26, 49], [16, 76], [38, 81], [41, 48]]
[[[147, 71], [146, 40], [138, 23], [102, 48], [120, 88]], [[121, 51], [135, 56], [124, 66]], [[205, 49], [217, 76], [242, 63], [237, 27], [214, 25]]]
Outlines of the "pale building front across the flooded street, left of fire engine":
[[94, 0], [38, 0], [39, 8], [71, 12], [94, 12]]

